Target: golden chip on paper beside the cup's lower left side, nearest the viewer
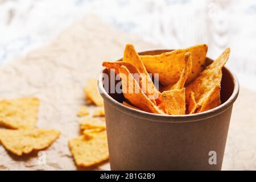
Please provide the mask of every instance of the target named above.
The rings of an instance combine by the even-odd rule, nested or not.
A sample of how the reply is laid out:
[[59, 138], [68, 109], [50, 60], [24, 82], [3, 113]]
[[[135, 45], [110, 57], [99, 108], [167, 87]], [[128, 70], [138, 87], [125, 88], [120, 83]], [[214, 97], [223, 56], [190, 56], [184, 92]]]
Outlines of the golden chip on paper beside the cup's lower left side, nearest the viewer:
[[94, 166], [109, 159], [106, 131], [96, 133], [90, 139], [84, 136], [71, 139], [68, 145], [79, 167]]

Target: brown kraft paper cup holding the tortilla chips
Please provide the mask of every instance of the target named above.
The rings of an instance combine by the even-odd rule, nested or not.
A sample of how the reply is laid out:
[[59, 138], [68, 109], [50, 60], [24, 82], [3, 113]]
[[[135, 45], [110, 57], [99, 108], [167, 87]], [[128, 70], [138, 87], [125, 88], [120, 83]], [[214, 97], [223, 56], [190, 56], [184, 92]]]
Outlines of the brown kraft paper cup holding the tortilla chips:
[[[156, 55], [170, 50], [139, 53]], [[207, 58], [207, 63], [212, 60]], [[109, 71], [105, 69], [104, 73]], [[161, 115], [122, 104], [122, 94], [108, 94], [100, 76], [104, 98], [110, 167], [112, 170], [220, 170], [230, 116], [238, 96], [236, 76], [222, 69], [221, 105], [192, 115]]]

